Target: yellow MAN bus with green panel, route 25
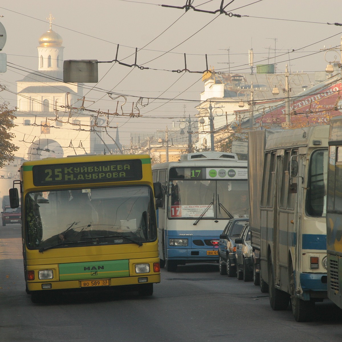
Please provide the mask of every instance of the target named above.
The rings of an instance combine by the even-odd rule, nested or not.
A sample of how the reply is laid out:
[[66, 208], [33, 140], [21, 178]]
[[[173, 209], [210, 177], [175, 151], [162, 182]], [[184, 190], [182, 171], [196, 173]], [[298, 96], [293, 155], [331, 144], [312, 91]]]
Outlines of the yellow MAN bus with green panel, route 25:
[[[160, 282], [150, 157], [89, 155], [24, 162], [20, 185], [26, 291], [127, 286], [152, 295]], [[155, 188], [155, 189], [154, 189]]]

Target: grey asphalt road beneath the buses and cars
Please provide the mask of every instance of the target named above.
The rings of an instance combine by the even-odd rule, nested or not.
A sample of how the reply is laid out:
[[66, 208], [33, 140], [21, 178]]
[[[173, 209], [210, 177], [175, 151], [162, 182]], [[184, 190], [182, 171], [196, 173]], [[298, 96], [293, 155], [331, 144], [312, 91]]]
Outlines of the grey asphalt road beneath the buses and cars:
[[221, 276], [217, 264], [162, 269], [152, 297], [86, 292], [33, 304], [25, 292], [19, 225], [0, 226], [1, 342], [341, 341], [342, 312], [326, 300], [315, 320], [272, 311], [252, 282]]

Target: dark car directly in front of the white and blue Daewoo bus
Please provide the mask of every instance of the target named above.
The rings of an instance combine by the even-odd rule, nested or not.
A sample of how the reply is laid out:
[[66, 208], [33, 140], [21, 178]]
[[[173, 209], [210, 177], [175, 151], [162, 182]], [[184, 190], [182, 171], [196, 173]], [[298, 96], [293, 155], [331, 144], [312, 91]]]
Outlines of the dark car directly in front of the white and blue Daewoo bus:
[[236, 218], [228, 221], [219, 241], [219, 271], [228, 277], [236, 276], [235, 239], [240, 236], [248, 218]]

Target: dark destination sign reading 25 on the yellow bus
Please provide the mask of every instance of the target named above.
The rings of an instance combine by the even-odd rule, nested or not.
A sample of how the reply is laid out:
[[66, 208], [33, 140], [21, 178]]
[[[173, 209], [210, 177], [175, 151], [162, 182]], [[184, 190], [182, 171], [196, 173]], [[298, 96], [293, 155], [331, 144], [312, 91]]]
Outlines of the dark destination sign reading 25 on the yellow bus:
[[142, 163], [128, 159], [35, 165], [32, 173], [35, 186], [137, 181], [142, 179]]

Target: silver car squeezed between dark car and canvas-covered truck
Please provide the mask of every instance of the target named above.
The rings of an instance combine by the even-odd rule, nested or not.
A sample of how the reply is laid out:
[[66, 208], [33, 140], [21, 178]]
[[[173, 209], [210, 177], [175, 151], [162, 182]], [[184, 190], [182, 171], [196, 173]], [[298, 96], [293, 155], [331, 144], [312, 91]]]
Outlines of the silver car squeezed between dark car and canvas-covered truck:
[[253, 280], [253, 250], [251, 246], [251, 232], [246, 223], [240, 236], [235, 239], [237, 278], [244, 281]]

